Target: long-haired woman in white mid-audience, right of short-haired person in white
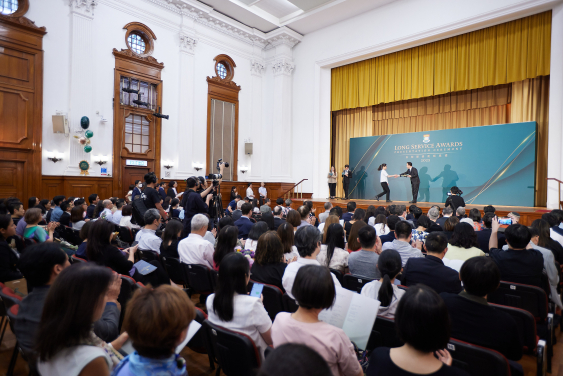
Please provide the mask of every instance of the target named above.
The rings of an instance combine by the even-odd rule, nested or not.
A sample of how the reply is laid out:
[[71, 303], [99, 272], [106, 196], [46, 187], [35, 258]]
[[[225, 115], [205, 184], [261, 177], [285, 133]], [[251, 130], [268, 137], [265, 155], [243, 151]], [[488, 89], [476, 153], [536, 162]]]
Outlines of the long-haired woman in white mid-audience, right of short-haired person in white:
[[321, 265], [346, 274], [348, 272], [348, 257], [350, 254], [346, 252], [345, 248], [344, 229], [340, 223], [333, 223], [328, 226], [326, 244], [321, 245], [317, 261]]

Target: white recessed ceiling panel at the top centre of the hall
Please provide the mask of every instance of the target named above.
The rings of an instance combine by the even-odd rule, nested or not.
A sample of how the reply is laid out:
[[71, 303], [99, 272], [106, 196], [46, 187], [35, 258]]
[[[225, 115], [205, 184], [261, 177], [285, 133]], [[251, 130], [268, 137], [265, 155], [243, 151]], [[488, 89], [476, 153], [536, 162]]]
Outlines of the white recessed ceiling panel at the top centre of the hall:
[[305, 35], [396, 0], [199, 0], [265, 33], [287, 26]]

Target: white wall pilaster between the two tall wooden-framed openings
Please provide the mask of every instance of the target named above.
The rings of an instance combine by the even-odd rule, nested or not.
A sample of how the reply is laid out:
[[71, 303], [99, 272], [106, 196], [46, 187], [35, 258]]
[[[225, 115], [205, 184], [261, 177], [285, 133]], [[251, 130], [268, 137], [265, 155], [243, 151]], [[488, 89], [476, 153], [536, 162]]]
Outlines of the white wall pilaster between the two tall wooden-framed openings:
[[196, 174], [193, 169], [194, 129], [194, 76], [197, 37], [190, 30], [180, 32], [180, 78], [178, 119], [178, 160], [174, 177], [186, 179]]

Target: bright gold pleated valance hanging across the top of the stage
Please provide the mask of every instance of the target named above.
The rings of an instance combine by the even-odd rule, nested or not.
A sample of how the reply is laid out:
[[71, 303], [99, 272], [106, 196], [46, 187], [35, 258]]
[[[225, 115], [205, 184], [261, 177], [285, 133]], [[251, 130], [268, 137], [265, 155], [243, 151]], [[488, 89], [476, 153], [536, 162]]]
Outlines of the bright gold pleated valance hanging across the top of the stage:
[[332, 111], [549, 75], [551, 11], [332, 69]]

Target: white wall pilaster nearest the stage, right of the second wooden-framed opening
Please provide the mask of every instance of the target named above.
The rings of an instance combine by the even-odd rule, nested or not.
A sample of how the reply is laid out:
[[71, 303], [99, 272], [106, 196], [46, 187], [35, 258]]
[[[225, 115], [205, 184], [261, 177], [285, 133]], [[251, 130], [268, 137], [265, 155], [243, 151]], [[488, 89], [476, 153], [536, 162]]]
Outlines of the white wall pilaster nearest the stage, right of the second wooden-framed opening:
[[[286, 47], [286, 46], [280, 46]], [[279, 48], [279, 47], [278, 47]], [[276, 54], [277, 55], [277, 54]], [[291, 177], [291, 100], [293, 60], [286, 54], [274, 59], [274, 100], [272, 113], [272, 139], [279, 147], [271, 153], [271, 176], [276, 181], [292, 181]]]

